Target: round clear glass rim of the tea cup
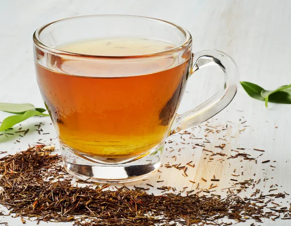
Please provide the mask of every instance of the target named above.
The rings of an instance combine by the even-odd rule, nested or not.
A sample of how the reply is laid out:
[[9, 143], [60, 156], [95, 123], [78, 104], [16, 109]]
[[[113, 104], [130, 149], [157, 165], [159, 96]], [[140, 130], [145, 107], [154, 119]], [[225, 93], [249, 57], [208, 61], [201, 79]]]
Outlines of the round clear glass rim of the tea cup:
[[[41, 32], [54, 23], [57, 23], [59, 21], [73, 19], [73, 18], [78, 18], [78, 17], [93, 17], [93, 16], [94, 17], [95, 16], [127, 16], [127, 17], [139, 17], [139, 18], [143, 18], [143, 19], [147, 19], [147, 20], [161, 21], [161, 22], [170, 24], [170, 25], [176, 27], [178, 30], [180, 30], [185, 35], [185, 40], [180, 45], [177, 45], [173, 48], [163, 50], [160, 52], [141, 54], [141, 55], [125, 55], [125, 56], [106, 56], [106, 55], [89, 55], [89, 54], [82, 54], [82, 53], [74, 53], [74, 52], [60, 50], [60, 49], [55, 48], [55, 47], [51, 47], [49, 45], [46, 45], [45, 43], [43, 43], [40, 40], [39, 36], [40, 36]], [[53, 21], [49, 24], [45, 24], [45, 25], [39, 27], [37, 30], [35, 30], [33, 33], [32, 39], [33, 39], [33, 42], [35, 45], [37, 45], [38, 47], [43, 48], [45, 50], [48, 50], [51, 53], [69, 55], [69, 56], [75, 56], [75, 57], [105, 58], [105, 59], [116, 59], [116, 60], [117, 59], [129, 59], [129, 58], [130, 59], [132, 59], [132, 58], [145, 58], [145, 57], [155, 57], [155, 56], [166, 55], [166, 54], [170, 54], [170, 53], [173, 53], [176, 51], [180, 51], [181, 49], [189, 46], [192, 43], [192, 36], [191, 36], [190, 32], [188, 30], [186, 30], [185, 28], [180, 27], [174, 23], [171, 23], [171, 22], [168, 22], [168, 21], [162, 20], [162, 19], [153, 18], [153, 17], [139, 16], [139, 15], [120, 15], [120, 14], [82, 15], [82, 16], [73, 16], [73, 17], [67, 17], [64, 19], [56, 20], [56, 21]]]

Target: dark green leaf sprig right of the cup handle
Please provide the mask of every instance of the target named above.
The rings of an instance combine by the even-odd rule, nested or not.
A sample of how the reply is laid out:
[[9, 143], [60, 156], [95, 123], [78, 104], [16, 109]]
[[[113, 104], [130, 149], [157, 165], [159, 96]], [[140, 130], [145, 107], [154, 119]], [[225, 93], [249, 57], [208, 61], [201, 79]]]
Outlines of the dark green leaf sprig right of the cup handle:
[[276, 90], [264, 90], [260, 86], [251, 82], [241, 82], [242, 88], [249, 94], [249, 96], [264, 101], [266, 107], [268, 102], [278, 104], [291, 104], [291, 84], [284, 85]]

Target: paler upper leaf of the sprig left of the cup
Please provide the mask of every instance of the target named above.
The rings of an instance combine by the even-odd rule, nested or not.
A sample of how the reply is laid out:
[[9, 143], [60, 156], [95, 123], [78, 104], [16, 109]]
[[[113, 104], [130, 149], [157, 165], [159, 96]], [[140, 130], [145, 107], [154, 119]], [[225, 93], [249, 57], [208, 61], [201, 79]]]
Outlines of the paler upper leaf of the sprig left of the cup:
[[11, 104], [11, 103], [0, 103], [0, 111], [6, 111], [15, 114], [24, 114], [28, 110], [36, 110], [39, 112], [45, 112], [44, 108], [35, 108], [32, 104]]

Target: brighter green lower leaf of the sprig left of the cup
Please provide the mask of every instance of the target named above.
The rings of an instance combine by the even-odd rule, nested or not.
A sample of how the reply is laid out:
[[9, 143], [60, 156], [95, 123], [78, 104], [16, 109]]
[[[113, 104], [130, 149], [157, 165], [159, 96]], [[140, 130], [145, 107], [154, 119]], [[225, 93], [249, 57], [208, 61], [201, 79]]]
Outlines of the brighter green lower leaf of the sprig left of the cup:
[[11, 128], [12, 126], [16, 125], [17, 123], [27, 120], [28, 118], [39, 115], [39, 116], [49, 116], [48, 114], [43, 114], [36, 110], [28, 110], [22, 115], [12, 115], [5, 118], [0, 125], [0, 132]]

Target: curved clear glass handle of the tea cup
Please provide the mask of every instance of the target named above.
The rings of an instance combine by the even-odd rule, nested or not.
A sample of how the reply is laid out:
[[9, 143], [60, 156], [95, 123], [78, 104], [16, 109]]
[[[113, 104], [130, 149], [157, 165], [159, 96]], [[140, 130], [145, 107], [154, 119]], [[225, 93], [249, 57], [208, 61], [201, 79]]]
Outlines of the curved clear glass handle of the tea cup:
[[225, 75], [224, 86], [203, 104], [183, 114], [177, 114], [173, 121], [169, 136], [210, 119], [232, 101], [237, 91], [237, 86], [239, 84], [238, 68], [235, 62], [224, 52], [204, 50], [193, 54], [192, 62], [191, 74], [203, 67], [213, 65], [219, 66]]

